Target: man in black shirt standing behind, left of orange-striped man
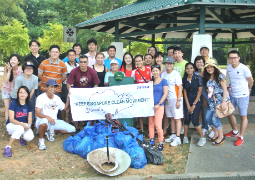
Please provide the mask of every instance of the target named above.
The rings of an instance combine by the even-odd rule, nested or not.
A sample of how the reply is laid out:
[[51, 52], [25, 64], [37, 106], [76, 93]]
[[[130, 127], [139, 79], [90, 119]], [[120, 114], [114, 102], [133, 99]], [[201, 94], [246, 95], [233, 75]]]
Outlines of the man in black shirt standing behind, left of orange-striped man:
[[[45, 56], [39, 54], [39, 52], [38, 52], [40, 49], [40, 45], [41, 44], [37, 40], [31, 40], [29, 42], [29, 48], [31, 50], [31, 54], [24, 58], [24, 62], [32, 61], [32, 63], [34, 64], [35, 68], [34, 68], [33, 74], [35, 76], [38, 76], [38, 68], [39, 68], [41, 62], [46, 59]], [[35, 92], [31, 98], [33, 107], [35, 107], [35, 99], [39, 95], [40, 84], [41, 84], [41, 82], [38, 79], [38, 89], [37, 88], [35, 89]], [[33, 108], [33, 112], [32, 112], [32, 120], [33, 120], [33, 122], [32, 122], [33, 123], [32, 128], [33, 128], [33, 125], [35, 123], [35, 109], [34, 108]]]

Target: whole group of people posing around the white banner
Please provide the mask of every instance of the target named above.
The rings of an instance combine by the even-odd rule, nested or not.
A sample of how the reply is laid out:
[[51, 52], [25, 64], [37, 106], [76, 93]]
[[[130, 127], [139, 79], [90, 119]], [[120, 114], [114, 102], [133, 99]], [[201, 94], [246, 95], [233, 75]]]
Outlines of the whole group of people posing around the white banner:
[[[226, 77], [220, 72], [217, 61], [209, 57], [207, 46], [201, 47], [201, 56], [197, 56], [194, 63], [183, 59], [180, 47], [169, 47], [166, 59], [164, 53], [152, 46], [145, 56], [138, 54], [133, 57], [126, 52], [121, 60], [116, 58], [116, 47], [113, 45], [107, 49], [107, 58], [102, 52], [97, 52], [94, 38], [87, 41], [87, 46], [89, 52], [83, 55], [81, 44], [75, 43], [73, 49], [67, 51], [67, 56], [60, 60], [59, 46], [52, 45], [46, 59], [38, 53], [40, 43], [32, 40], [29, 43], [31, 54], [25, 57], [22, 67], [19, 66], [18, 55], [9, 58], [2, 88], [6, 128], [11, 135], [4, 148], [6, 157], [12, 156], [11, 146], [16, 139], [20, 140], [20, 145], [25, 145], [26, 141], [34, 138], [33, 127], [39, 134], [40, 150], [46, 149], [44, 136], [54, 141], [55, 133], [79, 132], [79, 122], [72, 122], [71, 118], [70, 89], [109, 86], [109, 77], [117, 72], [133, 77], [134, 83], [153, 83], [155, 116], [148, 117], [148, 127], [153, 146], [156, 129], [158, 150], [163, 150], [164, 137], [171, 146], [180, 145], [182, 132], [183, 144], [188, 143], [190, 121], [200, 135], [198, 146], [206, 143], [204, 136], [208, 134], [209, 126], [212, 128], [209, 140], [214, 145], [223, 144], [225, 137], [238, 137], [237, 146], [244, 142], [253, 78], [249, 68], [239, 62], [238, 51], [228, 54], [229, 95]], [[240, 135], [233, 114], [228, 116], [233, 130], [225, 135], [220, 119], [215, 115], [216, 105], [221, 105], [224, 110], [229, 100], [239, 108], [242, 119]], [[68, 108], [69, 119], [65, 122]], [[169, 118], [171, 135], [167, 137]], [[141, 133], [144, 133], [143, 117], [138, 117], [138, 122]]]

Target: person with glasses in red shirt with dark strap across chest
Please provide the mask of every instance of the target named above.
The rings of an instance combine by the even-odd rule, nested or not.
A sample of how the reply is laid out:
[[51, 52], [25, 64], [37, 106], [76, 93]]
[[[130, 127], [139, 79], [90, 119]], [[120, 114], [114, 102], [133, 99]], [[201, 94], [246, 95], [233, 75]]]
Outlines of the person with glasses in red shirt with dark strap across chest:
[[[135, 56], [135, 64], [137, 66], [137, 69], [132, 71], [131, 77], [134, 78], [134, 82], [136, 84], [140, 83], [147, 83], [151, 81], [151, 67], [149, 66], [144, 66], [143, 65], [143, 56], [141, 54], [138, 54]], [[142, 134], [144, 133], [143, 131], [143, 117], [139, 117], [139, 126], [142, 131]]]

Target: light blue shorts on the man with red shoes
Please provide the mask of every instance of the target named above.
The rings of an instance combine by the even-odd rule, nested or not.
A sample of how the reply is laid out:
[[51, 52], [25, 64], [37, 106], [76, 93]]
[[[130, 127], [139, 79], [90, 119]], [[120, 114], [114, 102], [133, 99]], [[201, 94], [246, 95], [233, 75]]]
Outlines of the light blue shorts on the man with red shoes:
[[[230, 96], [230, 101], [233, 104], [233, 106], [235, 107], [235, 109], [236, 109], [236, 107], [238, 107], [240, 116], [247, 116], [248, 105], [249, 105], [249, 96], [239, 97], [239, 98]], [[233, 112], [233, 114], [234, 113], [235, 113], [235, 111]]]

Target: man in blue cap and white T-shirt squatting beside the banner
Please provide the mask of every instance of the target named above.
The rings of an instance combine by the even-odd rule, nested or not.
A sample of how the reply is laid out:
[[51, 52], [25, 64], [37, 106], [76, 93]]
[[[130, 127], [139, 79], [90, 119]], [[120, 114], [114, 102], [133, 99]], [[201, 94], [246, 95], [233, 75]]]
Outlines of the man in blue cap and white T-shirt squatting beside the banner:
[[43, 136], [46, 135], [49, 141], [54, 141], [55, 133], [73, 133], [74, 126], [63, 120], [57, 119], [58, 110], [67, 110], [69, 107], [69, 97], [66, 104], [55, 95], [58, 83], [54, 79], [46, 82], [46, 92], [38, 96], [36, 100], [36, 128], [39, 130], [38, 146], [40, 150], [45, 150]]

